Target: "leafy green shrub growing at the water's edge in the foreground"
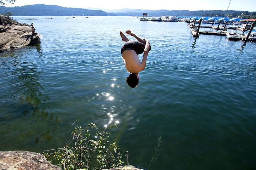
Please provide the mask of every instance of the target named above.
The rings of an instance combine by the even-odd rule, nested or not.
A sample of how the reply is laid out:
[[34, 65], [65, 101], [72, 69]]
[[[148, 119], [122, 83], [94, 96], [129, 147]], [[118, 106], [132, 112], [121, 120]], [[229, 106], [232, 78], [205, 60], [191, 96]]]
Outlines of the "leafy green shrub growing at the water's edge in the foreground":
[[[75, 123], [78, 120], [75, 121]], [[74, 124], [73, 124], [74, 125]], [[57, 161], [57, 165], [66, 170], [72, 169], [106, 169], [121, 166], [122, 154], [116, 142], [111, 143], [110, 133], [107, 130], [116, 128], [116, 124], [106, 126], [102, 131], [91, 137], [91, 131], [97, 125], [91, 123], [86, 128], [76, 126], [65, 146], [60, 149], [51, 149], [53, 153], [43, 153], [47, 160]], [[126, 152], [128, 164], [128, 152]]]

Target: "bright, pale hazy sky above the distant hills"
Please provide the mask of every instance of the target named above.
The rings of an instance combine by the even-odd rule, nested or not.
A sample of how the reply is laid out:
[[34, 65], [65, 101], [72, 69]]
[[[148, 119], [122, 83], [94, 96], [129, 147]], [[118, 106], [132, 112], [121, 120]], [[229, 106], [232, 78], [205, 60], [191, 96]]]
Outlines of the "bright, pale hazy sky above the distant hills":
[[[116, 10], [133, 8], [143, 10], [227, 10], [230, 0], [16, 0], [11, 5], [23, 6], [34, 4], [59, 5], [75, 8], [103, 8]], [[256, 11], [256, 0], [231, 0], [229, 10]]]

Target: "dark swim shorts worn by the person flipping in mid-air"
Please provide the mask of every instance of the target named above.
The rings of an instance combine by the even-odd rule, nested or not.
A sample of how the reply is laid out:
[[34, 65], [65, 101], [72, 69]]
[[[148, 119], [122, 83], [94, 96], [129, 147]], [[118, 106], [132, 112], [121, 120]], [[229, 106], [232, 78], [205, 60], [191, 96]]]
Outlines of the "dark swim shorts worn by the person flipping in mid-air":
[[[123, 52], [125, 50], [134, 50], [137, 54], [142, 54], [144, 52], [144, 49], [145, 49], [145, 44], [143, 44], [142, 42], [127, 41], [122, 46], [121, 54], [123, 54]], [[149, 50], [151, 50], [151, 46], [150, 45], [149, 45]]]

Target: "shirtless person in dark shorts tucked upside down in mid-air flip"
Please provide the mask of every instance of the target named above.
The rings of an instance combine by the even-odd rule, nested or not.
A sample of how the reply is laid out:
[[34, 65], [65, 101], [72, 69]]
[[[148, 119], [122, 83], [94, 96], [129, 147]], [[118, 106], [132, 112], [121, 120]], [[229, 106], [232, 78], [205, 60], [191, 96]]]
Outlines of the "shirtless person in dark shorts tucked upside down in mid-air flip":
[[[126, 78], [126, 83], [134, 88], [139, 84], [139, 72], [145, 69], [148, 53], [151, 50], [150, 42], [147, 39], [140, 38], [130, 30], [126, 34], [133, 36], [138, 41], [130, 41], [123, 32], [120, 32], [122, 40], [125, 42], [121, 48], [124, 66], [131, 74]], [[142, 62], [139, 60], [138, 54], [143, 53]]]

